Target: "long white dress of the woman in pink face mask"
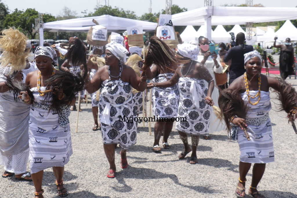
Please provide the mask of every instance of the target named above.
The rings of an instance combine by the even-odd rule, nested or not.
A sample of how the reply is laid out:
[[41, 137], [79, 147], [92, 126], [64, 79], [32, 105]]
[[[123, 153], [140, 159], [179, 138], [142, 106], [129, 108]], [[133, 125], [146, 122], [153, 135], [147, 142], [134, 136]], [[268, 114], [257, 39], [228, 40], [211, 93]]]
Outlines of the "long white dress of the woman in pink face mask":
[[[198, 62], [202, 62], [203, 60], [203, 54], [198, 55]], [[217, 62], [219, 63], [219, 68], [214, 66], [214, 60], [211, 58], [211, 56], [208, 56], [208, 59], [206, 60], [204, 66], [208, 69], [209, 73], [211, 74], [212, 78], [214, 78], [214, 91], [211, 94], [211, 98], [214, 101], [214, 105], [218, 106], [218, 99], [219, 99], [219, 89], [217, 88], [217, 82], [216, 78], [214, 76], [214, 73], [222, 73], [223, 66], [221, 65], [219, 56], [217, 57]], [[208, 82], [204, 81], [205, 86], [208, 87]], [[209, 133], [215, 132], [215, 131], [222, 131], [226, 129], [225, 124], [220, 123], [220, 121], [217, 119], [217, 116], [212, 111], [210, 120], [209, 120]]]

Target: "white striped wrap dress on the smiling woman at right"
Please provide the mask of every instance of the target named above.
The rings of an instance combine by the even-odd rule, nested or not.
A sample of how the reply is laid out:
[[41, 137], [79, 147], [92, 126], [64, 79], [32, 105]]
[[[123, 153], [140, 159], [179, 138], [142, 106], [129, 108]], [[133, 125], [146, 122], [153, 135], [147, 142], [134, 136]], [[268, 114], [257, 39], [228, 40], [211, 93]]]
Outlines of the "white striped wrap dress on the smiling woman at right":
[[[254, 96], [257, 91], [249, 91], [249, 94]], [[261, 91], [261, 98], [257, 105], [251, 105], [248, 102], [247, 92], [241, 95], [249, 108], [246, 121], [250, 140], [247, 140], [244, 131], [238, 128], [237, 142], [241, 152], [240, 161], [247, 163], [273, 162], [274, 148], [271, 121], [268, 114], [271, 109], [270, 93]], [[258, 97], [250, 98], [252, 103], [257, 102], [257, 100]], [[259, 125], [259, 123], [263, 124]]]

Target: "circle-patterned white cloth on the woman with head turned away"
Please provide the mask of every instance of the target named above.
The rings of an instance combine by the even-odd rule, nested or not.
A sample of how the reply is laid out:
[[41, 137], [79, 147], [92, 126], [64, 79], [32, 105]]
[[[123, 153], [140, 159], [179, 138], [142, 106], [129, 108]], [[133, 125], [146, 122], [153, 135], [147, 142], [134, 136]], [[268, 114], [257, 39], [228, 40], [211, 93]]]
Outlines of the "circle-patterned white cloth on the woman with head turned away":
[[203, 79], [181, 77], [178, 81], [178, 90], [180, 94], [178, 117], [184, 117], [184, 121], [176, 122], [176, 129], [190, 135], [208, 133], [212, 108], [204, 100], [208, 88]]

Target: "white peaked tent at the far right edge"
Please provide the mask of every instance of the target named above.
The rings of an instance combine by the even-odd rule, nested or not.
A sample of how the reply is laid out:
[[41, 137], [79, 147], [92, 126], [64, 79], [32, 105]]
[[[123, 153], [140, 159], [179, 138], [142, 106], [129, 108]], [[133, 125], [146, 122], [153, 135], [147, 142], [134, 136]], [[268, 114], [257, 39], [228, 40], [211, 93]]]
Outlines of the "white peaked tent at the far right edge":
[[277, 35], [278, 40], [286, 40], [286, 38], [297, 40], [297, 28], [291, 23], [291, 21], [287, 20], [284, 25], [275, 32], [275, 35]]

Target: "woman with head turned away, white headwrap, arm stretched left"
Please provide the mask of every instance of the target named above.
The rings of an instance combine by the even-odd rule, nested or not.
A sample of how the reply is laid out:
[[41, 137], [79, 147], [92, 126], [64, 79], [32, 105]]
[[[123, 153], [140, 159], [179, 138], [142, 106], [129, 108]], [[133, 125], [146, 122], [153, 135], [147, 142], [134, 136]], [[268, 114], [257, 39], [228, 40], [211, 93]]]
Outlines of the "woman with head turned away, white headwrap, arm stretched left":
[[[178, 103], [178, 116], [183, 119], [177, 122], [181, 141], [184, 143], [184, 151], [178, 156], [184, 159], [191, 152], [190, 164], [196, 164], [197, 146], [199, 135], [208, 133], [209, 120], [211, 115], [211, 94], [214, 89], [214, 79], [211, 77], [208, 69], [200, 62], [195, 61], [199, 53], [198, 46], [184, 43], [177, 45], [178, 55], [182, 56], [186, 63], [180, 65], [173, 77], [169, 81], [153, 82], [148, 84], [150, 87], [172, 87], [178, 83], [180, 100]], [[208, 88], [204, 81], [208, 82]], [[207, 103], [207, 104], [206, 104]], [[192, 149], [188, 143], [187, 134], [192, 137]]]

